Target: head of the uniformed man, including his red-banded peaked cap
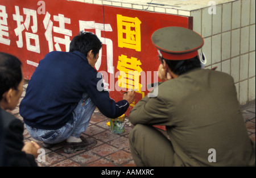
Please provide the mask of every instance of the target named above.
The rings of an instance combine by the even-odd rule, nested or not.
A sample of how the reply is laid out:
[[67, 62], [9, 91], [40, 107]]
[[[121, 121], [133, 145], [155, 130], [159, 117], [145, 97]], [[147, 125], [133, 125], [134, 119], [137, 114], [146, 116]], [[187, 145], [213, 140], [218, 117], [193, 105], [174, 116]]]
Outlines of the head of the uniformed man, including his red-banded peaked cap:
[[197, 50], [204, 39], [196, 32], [183, 27], [160, 28], [152, 34], [152, 43], [164, 68], [176, 76], [201, 68]]

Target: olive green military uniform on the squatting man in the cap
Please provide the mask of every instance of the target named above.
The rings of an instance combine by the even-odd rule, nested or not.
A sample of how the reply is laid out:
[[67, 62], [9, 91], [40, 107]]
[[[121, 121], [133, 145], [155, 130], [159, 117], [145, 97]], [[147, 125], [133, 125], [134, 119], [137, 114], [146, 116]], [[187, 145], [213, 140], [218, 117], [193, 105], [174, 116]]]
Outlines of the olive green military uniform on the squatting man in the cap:
[[[197, 68], [162, 82], [156, 97], [131, 110], [130, 121], [138, 166], [255, 166], [255, 143], [229, 74]], [[170, 140], [152, 125], [166, 126]]]

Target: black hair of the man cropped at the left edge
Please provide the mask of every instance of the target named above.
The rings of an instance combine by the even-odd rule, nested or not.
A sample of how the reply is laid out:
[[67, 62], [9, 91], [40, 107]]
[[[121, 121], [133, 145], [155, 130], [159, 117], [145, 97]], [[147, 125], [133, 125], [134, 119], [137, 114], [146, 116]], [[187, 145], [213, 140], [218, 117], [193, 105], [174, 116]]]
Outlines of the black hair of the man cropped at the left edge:
[[8, 53], [0, 52], [0, 100], [9, 89], [18, 90], [22, 81], [22, 63]]

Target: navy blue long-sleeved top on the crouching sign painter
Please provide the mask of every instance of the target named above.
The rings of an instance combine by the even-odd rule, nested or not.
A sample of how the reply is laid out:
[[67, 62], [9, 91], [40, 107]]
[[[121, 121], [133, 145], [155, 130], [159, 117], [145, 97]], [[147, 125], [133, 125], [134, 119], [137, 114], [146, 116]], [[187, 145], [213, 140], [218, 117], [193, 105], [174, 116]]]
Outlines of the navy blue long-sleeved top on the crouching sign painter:
[[97, 73], [81, 52], [48, 53], [40, 60], [20, 102], [24, 123], [38, 129], [59, 129], [72, 118], [84, 92], [106, 117], [125, 113], [129, 107], [126, 100], [115, 102], [108, 91], [97, 89], [98, 82], [102, 84]]

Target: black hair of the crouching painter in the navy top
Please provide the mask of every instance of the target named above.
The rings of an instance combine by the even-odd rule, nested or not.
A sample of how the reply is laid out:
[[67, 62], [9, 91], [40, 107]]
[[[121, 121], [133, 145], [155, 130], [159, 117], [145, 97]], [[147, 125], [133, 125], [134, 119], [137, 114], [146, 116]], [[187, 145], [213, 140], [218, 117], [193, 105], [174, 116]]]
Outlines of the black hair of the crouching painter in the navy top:
[[100, 52], [102, 43], [100, 39], [92, 32], [80, 31], [79, 35], [75, 36], [69, 46], [69, 52], [79, 51], [85, 56], [92, 50], [94, 57]]

